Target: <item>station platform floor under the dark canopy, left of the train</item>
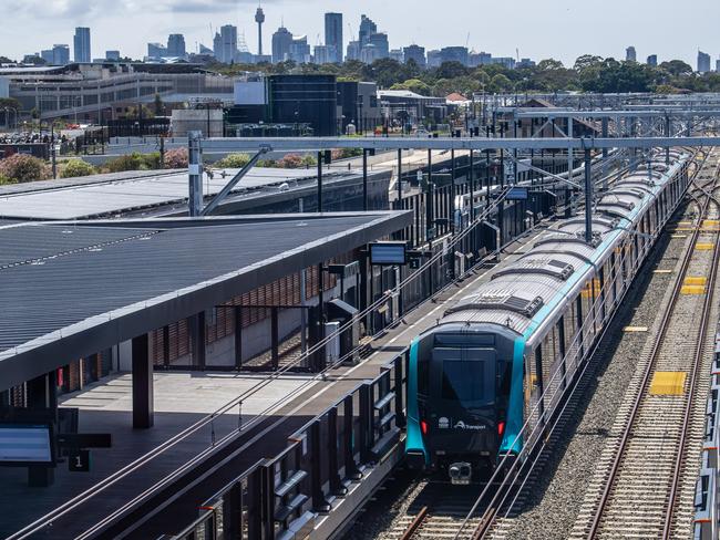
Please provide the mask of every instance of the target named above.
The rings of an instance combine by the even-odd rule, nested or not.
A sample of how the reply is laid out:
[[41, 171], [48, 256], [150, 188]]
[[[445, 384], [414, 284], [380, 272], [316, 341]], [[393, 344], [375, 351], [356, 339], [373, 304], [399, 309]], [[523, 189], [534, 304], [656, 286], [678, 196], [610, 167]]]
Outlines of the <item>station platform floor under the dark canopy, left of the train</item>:
[[[520, 257], [522, 246], [523, 242], [515, 243], [515, 252], [506, 256], [503, 264]], [[309, 375], [284, 376], [271, 382], [250, 399], [244, 401], [243, 425], [249, 427], [244, 427], [240, 435], [213, 458], [215, 463], [227, 458], [227, 464], [216, 468], [208, 478], [202, 478], [202, 468], [198, 468], [193, 472], [197, 485], [158, 516], [143, 523], [131, 538], [157, 538], [162, 533], [175, 531], [183, 523], [178, 523], [174, 517], [195, 516], [197, 501], [206, 500], [258, 459], [281, 451], [287, 446], [287, 438], [299, 427], [336, 403], [359, 382], [376, 377], [380, 367], [403, 351], [414, 336], [435, 324], [444, 309], [459, 300], [470, 288], [488, 279], [488, 272], [490, 268], [481, 270], [460, 285], [450, 285], [438, 293], [433, 301], [425, 302], [408, 313], [403, 322], [373, 343], [373, 353], [361, 364], [333, 370], [325, 381], [310, 380]], [[28, 488], [24, 484], [24, 469], [0, 469], [0, 482], [10, 487], [0, 494], [2, 508], [12, 508], [18, 501], [33, 500], [33, 505], [18, 505], [18, 511], [11, 513], [11, 519], [8, 515], [0, 517], [0, 533], [7, 533], [13, 527], [17, 529], [19, 523], [28, 523], [81, 494], [187, 428], [205, 413], [214, 411], [214, 407], [237, 396], [259, 378], [263, 378], [263, 375], [155, 373], [155, 426], [141, 432], [131, 427], [127, 375], [119, 375], [95, 384], [88, 391], [69, 395], [62, 405], [82, 409], [81, 432], [110, 430], [113, 433], [114, 447], [110, 450], [93, 450], [96, 459], [90, 474], [71, 474], [62, 467], [59, 468], [55, 485], [51, 488]], [[268, 408], [270, 405], [275, 406]], [[261, 416], [257, 416], [260, 413]], [[238, 408], [235, 407], [214, 422], [215, 440], [219, 442], [225, 435], [235, 432], [237, 426]], [[206, 450], [212, 440], [210, 428], [203, 427], [197, 434], [109, 487], [102, 496], [90, 499], [68, 516], [56, 519], [52, 538], [74, 538], [82, 533], [181, 467], [191, 457]], [[175, 488], [168, 488], [168, 494], [173, 489]], [[99, 501], [102, 503], [99, 505]], [[137, 516], [133, 516], [132, 520], [136, 518]], [[126, 521], [121, 521], [117, 530], [125, 523]], [[61, 530], [62, 532], [59, 532]], [[117, 530], [111, 529], [106, 533], [113, 534]]]

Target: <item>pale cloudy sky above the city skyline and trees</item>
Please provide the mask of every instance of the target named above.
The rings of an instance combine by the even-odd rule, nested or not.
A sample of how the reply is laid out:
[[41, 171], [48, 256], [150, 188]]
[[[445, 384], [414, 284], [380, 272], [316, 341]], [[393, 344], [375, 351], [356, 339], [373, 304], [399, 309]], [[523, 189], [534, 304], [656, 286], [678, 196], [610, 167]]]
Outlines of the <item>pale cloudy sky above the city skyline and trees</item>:
[[[357, 34], [360, 14], [388, 32], [391, 49], [416, 43], [425, 49], [465, 45], [495, 56], [554, 58], [570, 66], [580, 54], [625, 58], [635, 45], [638, 61], [680, 59], [696, 65], [698, 49], [720, 58], [720, 1], [687, 0], [263, 0], [264, 49], [284, 22], [308, 43], [325, 40], [323, 13], [344, 14], [344, 42]], [[188, 51], [212, 46], [210, 28], [235, 24], [257, 52], [257, 0], [0, 0], [0, 55], [71, 46], [75, 27], [90, 27], [92, 55], [106, 50], [141, 59], [147, 42], [183, 33]], [[361, 6], [361, 7], [360, 7]], [[8, 24], [8, 22], [10, 22]], [[349, 23], [349, 24], [348, 24]]]

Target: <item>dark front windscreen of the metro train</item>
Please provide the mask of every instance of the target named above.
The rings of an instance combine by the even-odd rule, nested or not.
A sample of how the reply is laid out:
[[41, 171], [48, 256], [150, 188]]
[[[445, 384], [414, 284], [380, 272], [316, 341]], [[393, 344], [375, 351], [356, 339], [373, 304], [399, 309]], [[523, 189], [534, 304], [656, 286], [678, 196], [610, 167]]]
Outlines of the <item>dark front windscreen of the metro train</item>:
[[464, 407], [490, 405], [495, 401], [494, 380], [494, 362], [446, 359], [442, 363], [442, 397]]

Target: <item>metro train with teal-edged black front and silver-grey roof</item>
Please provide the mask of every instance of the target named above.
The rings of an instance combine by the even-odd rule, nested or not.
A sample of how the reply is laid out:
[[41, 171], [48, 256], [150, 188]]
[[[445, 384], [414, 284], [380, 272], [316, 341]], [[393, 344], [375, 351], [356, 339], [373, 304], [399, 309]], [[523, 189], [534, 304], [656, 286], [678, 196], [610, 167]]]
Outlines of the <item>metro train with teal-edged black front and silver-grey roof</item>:
[[592, 242], [557, 221], [412, 341], [410, 466], [467, 484], [541, 432], [688, 187], [690, 156], [661, 157], [601, 194]]

